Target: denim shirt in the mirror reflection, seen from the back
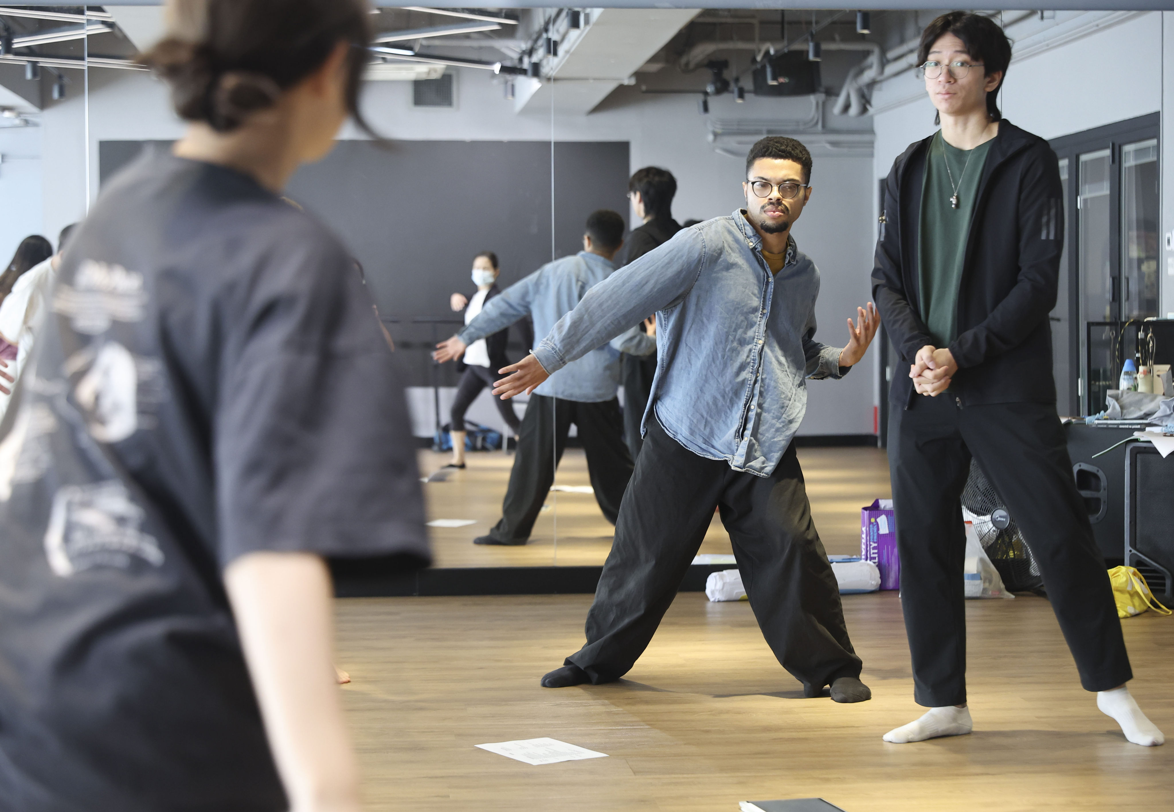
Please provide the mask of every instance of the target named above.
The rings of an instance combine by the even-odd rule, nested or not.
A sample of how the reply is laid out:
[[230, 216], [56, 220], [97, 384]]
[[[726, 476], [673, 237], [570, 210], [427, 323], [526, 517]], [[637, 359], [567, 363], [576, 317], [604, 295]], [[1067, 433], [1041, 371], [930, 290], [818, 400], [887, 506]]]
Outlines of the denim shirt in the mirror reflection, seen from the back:
[[[534, 334], [545, 336], [554, 327], [555, 322], [575, 309], [589, 289], [614, 272], [615, 265], [589, 251], [555, 259], [490, 299], [477, 318], [457, 337], [465, 344], [472, 344], [505, 330], [526, 316], [534, 319]], [[632, 322], [618, 327], [593, 346], [582, 347], [575, 356], [578, 360], [560, 365], [564, 368], [552, 374], [534, 392], [580, 402], [600, 402], [614, 398], [620, 385], [620, 353], [650, 356], [656, 351], [656, 339], [635, 326], [652, 316], [653, 310], [634, 316]]]

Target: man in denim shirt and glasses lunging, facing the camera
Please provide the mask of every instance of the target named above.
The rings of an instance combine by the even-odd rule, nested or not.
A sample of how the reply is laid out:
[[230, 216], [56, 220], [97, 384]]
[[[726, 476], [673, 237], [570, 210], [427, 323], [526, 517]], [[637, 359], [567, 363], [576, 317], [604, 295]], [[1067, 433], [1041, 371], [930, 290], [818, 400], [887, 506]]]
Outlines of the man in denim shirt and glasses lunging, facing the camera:
[[587, 645], [546, 688], [619, 679], [652, 641], [714, 507], [750, 605], [778, 662], [809, 697], [871, 697], [844, 627], [839, 588], [811, 522], [791, 444], [805, 378], [839, 378], [864, 357], [872, 305], [843, 350], [815, 340], [819, 273], [790, 236], [811, 196], [811, 155], [792, 138], [750, 149], [745, 209], [680, 231], [592, 289], [495, 394], [533, 390], [646, 313], [659, 363], [636, 460], [587, 615]]

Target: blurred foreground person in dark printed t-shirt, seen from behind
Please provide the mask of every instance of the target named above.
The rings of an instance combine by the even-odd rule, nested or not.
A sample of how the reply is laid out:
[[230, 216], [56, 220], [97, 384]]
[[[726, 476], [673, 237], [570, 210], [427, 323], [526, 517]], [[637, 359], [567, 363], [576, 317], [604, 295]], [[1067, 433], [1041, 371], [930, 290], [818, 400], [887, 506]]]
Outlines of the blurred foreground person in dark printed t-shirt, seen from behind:
[[370, 19], [171, 0], [142, 56], [187, 128], [73, 235], [0, 441], [5, 810], [360, 808], [325, 559], [426, 562], [419, 473], [350, 253], [278, 195]]

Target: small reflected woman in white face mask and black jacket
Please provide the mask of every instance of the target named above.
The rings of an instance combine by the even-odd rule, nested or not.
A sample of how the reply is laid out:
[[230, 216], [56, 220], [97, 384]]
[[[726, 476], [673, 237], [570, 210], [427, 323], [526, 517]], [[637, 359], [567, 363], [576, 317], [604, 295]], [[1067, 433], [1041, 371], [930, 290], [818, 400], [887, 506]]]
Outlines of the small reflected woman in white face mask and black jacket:
[[[466, 298], [461, 293], [453, 293], [450, 306], [457, 311], [465, 311], [465, 325], [477, 318], [486, 304], [494, 296], [501, 292], [498, 287], [498, 255], [493, 251], [481, 251], [473, 257], [473, 284], [477, 292], [473, 298]], [[452, 437], [452, 462], [445, 468], [465, 467], [465, 412], [470, 405], [481, 393], [486, 386], [492, 387], [497, 380], [497, 371], [510, 364], [506, 358], [506, 345], [510, 343], [510, 327], [478, 339], [465, 350], [465, 357], [458, 361], [458, 370], [461, 372], [460, 383], [457, 384], [457, 395], [452, 401], [452, 411], [448, 419]], [[500, 398], [493, 399], [501, 419], [510, 426], [510, 433], [518, 437], [518, 414], [513, 411], [513, 404]]]

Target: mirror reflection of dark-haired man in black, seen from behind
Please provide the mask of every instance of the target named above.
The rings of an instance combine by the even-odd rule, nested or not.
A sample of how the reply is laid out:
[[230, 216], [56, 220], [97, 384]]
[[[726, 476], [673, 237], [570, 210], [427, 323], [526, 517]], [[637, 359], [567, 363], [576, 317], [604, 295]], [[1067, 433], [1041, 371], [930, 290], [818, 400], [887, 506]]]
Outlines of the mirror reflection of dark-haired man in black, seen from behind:
[[[654, 248], [663, 245], [681, 230], [673, 219], [673, 197], [676, 195], [676, 178], [673, 172], [660, 167], [637, 169], [628, 181], [628, 198], [636, 217], [645, 222], [633, 229], [615, 258], [616, 269], [635, 262]], [[640, 422], [645, 418], [648, 395], [656, 377], [656, 353], [629, 356], [623, 353], [620, 381], [623, 385], [623, 439], [632, 452], [632, 459], [640, 455], [645, 440], [640, 435]]]

